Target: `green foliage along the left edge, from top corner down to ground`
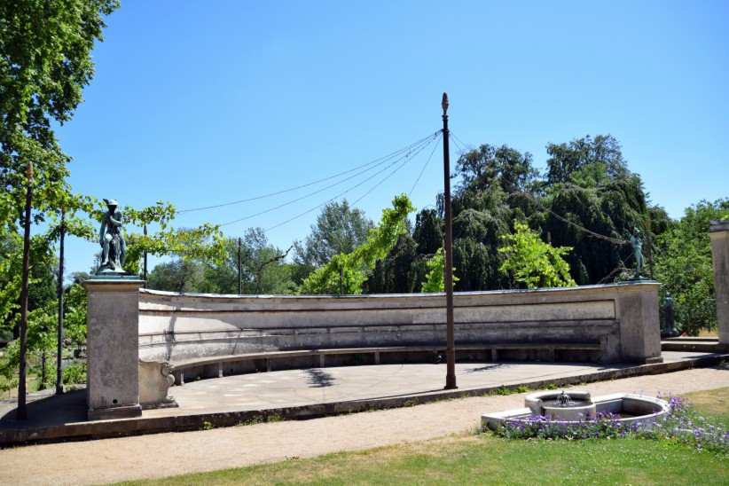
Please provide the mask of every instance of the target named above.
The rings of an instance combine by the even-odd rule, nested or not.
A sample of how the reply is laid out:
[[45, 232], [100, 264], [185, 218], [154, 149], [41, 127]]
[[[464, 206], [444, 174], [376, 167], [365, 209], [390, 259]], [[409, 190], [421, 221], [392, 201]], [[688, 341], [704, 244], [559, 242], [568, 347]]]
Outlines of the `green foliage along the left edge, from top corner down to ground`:
[[[0, 330], [17, 335], [20, 299], [20, 227], [47, 223], [30, 245], [28, 350], [46, 349], [55, 320], [52, 243], [58, 216], [67, 213], [69, 234], [87, 235], [75, 216], [89, 200], [72, 195], [67, 184], [70, 158], [54, 135], [54, 123], [68, 122], [93, 75], [91, 50], [102, 40], [104, 17], [114, 0], [6, 0], [0, 3]], [[32, 221], [21, 216], [33, 165]], [[49, 219], [51, 218], [51, 219]], [[14, 369], [13, 342], [0, 372]]]

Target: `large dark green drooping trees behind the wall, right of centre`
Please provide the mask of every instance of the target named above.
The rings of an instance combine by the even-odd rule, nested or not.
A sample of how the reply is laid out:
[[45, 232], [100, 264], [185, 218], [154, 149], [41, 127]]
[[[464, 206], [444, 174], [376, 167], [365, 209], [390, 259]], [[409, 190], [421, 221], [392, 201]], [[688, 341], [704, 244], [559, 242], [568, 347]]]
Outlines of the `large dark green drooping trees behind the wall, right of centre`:
[[[628, 169], [615, 137], [576, 138], [547, 145], [547, 171], [540, 175], [529, 153], [506, 145], [481, 145], [463, 153], [452, 197], [453, 266], [458, 291], [514, 288], [524, 284], [513, 272], [499, 270], [506, 260], [505, 237], [513, 221], [526, 223], [554, 247], [572, 247], [564, 255], [569, 277], [579, 285], [607, 283], [633, 266], [627, 234], [645, 235], [647, 270], [653, 268], [655, 238], [670, 226], [665, 210], [653, 206], [642, 181]], [[417, 292], [425, 263], [443, 246], [443, 195], [436, 209], [416, 218], [412, 245], [398, 244], [382, 260], [365, 291]], [[397, 265], [412, 262], [404, 274]], [[410, 280], [396, 281], [406, 275]], [[650, 275], [650, 273], [649, 273]]]

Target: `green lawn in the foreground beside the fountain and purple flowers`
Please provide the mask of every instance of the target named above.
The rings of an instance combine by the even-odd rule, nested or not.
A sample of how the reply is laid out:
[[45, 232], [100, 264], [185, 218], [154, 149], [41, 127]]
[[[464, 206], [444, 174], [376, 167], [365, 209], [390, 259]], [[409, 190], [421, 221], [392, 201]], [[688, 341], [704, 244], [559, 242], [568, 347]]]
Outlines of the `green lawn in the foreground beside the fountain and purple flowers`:
[[[687, 396], [729, 423], [729, 388]], [[125, 484], [727, 484], [729, 457], [642, 439], [508, 440], [491, 434]]]

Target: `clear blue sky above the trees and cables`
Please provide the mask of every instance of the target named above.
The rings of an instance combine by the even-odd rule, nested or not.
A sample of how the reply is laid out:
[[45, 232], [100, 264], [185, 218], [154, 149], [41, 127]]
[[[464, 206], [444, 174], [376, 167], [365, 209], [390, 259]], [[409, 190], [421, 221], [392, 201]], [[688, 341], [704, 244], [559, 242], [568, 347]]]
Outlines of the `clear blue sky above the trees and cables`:
[[[547, 143], [610, 133], [670, 216], [729, 196], [726, 2], [129, 0], [107, 24], [85, 102], [58, 134], [74, 189], [122, 206], [207, 206], [349, 169], [439, 129], [443, 90], [467, 145], [511, 145], [541, 169]], [[358, 206], [378, 219], [427, 153]], [[441, 163], [436, 152], [412, 193], [418, 208], [442, 190]], [[225, 232], [267, 228], [347, 185]], [[176, 224], [222, 223], [304, 193]], [[316, 215], [270, 240], [303, 239]], [[67, 269], [88, 270], [97, 247], [67, 248]]]

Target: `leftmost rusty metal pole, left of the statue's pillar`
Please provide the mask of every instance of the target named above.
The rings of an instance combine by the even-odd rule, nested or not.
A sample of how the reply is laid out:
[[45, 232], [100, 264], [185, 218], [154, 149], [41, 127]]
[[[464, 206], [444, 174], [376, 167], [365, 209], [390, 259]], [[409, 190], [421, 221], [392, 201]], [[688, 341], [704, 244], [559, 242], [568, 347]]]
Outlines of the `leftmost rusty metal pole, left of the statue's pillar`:
[[20, 370], [18, 379], [18, 412], [16, 418], [27, 419], [26, 355], [27, 355], [27, 280], [30, 273], [30, 205], [33, 199], [33, 162], [27, 163], [25, 220], [23, 224], [23, 275], [20, 284]]

